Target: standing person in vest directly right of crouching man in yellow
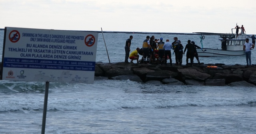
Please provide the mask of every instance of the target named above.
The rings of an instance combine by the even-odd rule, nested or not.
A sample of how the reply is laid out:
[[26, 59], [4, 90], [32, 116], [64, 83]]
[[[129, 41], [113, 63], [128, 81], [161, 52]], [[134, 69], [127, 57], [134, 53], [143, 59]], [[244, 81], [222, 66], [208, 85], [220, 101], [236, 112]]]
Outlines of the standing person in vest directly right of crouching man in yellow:
[[149, 42], [150, 37], [147, 36], [146, 39], [143, 41], [143, 63], [144, 64], [149, 64], [150, 63], [150, 54], [149, 54], [149, 49], [152, 50], [152, 47], [150, 46]]

